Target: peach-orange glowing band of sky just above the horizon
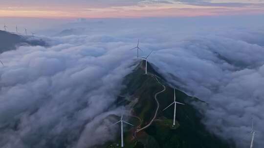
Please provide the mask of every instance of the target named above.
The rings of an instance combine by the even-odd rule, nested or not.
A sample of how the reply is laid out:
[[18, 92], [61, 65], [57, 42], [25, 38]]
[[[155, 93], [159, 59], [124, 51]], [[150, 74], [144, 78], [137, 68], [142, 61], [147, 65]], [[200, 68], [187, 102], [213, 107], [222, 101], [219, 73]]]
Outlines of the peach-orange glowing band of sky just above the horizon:
[[209, 7], [187, 4], [151, 4], [108, 8], [0, 7], [0, 17], [32, 18], [141, 18], [195, 17], [239, 14], [264, 14], [261, 7]]

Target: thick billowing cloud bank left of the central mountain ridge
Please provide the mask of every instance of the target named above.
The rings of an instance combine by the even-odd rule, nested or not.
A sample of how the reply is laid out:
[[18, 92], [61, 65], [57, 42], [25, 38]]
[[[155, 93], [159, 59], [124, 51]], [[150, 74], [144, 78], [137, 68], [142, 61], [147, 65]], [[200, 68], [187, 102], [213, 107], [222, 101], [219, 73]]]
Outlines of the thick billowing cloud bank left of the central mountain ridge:
[[133, 69], [128, 46], [84, 36], [60, 40], [68, 43], [1, 54], [7, 66], [0, 69], [1, 148], [84, 148], [78, 139], [93, 146], [114, 138], [102, 129], [110, 124], [104, 118], [117, 113], [109, 111]]

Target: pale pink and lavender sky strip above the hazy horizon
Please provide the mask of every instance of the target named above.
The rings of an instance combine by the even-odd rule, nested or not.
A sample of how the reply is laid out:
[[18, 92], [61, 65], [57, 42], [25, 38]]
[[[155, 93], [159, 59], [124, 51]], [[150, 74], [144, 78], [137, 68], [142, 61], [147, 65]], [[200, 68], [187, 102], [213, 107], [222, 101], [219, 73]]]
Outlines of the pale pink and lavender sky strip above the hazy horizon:
[[1, 0], [0, 17], [139, 18], [264, 14], [264, 0]]

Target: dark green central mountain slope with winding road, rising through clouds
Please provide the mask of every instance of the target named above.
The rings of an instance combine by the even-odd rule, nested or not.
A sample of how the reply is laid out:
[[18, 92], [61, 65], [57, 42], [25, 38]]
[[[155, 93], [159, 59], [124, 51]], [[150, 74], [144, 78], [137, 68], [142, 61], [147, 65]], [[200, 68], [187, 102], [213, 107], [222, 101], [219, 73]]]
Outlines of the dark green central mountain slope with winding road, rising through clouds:
[[[208, 132], [201, 124], [200, 114], [191, 101], [198, 98], [188, 96], [176, 90], [176, 101], [186, 105], [177, 105], [176, 126], [173, 127], [174, 106], [165, 111], [173, 102], [174, 90], [166, 81], [148, 66], [149, 74], [144, 73], [145, 61], [125, 77], [126, 88], [117, 100], [118, 105], [131, 109], [130, 122], [134, 128], [125, 128], [125, 148], [233, 148], [226, 141]], [[164, 91], [165, 87], [165, 91]], [[157, 109], [156, 118], [153, 120]], [[153, 120], [150, 126], [150, 122]], [[147, 127], [145, 127], [147, 126]], [[144, 128], [145, 127], [145, 128]], [[116, 141], [107, 144], [107, 148], [119, 148], [119, 134]]]

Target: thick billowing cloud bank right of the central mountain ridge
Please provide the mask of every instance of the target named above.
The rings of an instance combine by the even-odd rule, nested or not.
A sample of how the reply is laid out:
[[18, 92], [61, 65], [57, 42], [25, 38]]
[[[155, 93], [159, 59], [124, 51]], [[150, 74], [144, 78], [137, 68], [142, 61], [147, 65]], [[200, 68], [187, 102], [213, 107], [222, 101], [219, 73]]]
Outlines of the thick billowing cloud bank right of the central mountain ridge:
[[209, 103], [209, 108], [196, 104], [205, 113], [203, 122], [224, 139], [234, 140], [238, 148], [249, 147], [253, 117], [255, 129], [260, 131], [255, 148], [261, 148], [263, 54], [264, 47], [258, 44], [209, 35], [159, 50], [152, 61], [169, 82]]

